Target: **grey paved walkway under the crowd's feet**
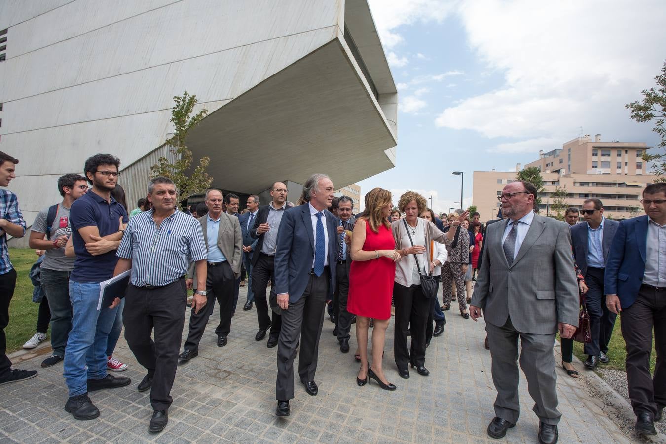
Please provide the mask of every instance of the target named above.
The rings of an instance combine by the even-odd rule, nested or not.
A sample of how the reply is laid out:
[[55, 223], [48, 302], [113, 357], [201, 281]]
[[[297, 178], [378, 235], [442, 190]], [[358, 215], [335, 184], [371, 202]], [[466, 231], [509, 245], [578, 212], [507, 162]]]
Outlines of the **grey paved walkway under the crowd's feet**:
[[[132, 384], [91, 393], [101, 411], [99, 419], [93, 421], [77, 421], [63, 409], [67, 389], [61, 364], [41, 369], [43, 355], [23, 355], [19, 366], [39, 369], [39, 375], [0, 387], [0, 442], [498, 442], [486, 435], [486, 425], [494, 416], [496, 393], [490, 354], [483, 344], [484, 325], [458, 316], [455, 303], [447, 312], [444, 335], [434, 338], [428, 348], [430, 377], [421, 377], [416, 371], [411, 379], [398, 377], [392, 359], [391, 323], [384, 367], [389, 380], [398, 385], [394, 392], [377, 385], [357, 387], [353, 330], [352, 350], [340, 353], [327, 316], [315, 378], [319, 394], [309, 396], [297, 381], [292, 415], [277, 418], [276, 349], [267, 349], [266, 339], [254, 341], [256, 312], [254, 308], [242, 311], [244, 294], [241, 288], [228, 345], [216, 347], [214, 315], [200, 343], [199, 356], [178, 367], [172, 389], [174, 403], [163, 433], [153, 435], [148, 431], [152, 414], [149, 396], [136, 389], [145, 371], [121, 339], [115, 354], [129, 364], [123, 375], [131, 377]], [[42, 351], [47, 353], [49, 349]], [[577, 367], [581, 369], [581, 363]], [[575, 380], [558, 367], [557, 374], [563, 414], [559, 424], [561, 443], [641, 441], [631, 431], [633, 416], [628, 403], [595, 373], [581, 371], [581, 379]], [[538, 419], [531, 411], [533, 401], [524, 379], [520, 400], [521, 419], [502, 441], [534, 443]], [[651, 442], [666, 442], [666, 437], [659, 435]]]

